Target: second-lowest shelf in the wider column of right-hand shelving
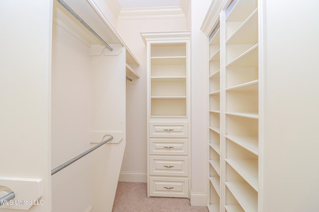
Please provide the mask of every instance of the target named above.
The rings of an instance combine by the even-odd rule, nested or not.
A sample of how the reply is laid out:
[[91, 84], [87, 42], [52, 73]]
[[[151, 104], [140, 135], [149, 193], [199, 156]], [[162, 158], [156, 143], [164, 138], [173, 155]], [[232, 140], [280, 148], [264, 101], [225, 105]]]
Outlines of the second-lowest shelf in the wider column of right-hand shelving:
[[234, 195], [245, 212], [257, 212], [257, 193], [247, 183], [226, 182], [229, 191]]

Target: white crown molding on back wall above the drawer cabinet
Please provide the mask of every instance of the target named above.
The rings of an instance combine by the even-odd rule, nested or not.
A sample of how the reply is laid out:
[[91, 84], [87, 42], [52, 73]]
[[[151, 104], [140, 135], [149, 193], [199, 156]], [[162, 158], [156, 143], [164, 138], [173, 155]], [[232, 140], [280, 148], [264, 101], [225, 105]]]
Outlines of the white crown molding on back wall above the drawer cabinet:
[[179, 6], [122, 8], [118, 20], [153, 19], [153, 18], [185, 18]]

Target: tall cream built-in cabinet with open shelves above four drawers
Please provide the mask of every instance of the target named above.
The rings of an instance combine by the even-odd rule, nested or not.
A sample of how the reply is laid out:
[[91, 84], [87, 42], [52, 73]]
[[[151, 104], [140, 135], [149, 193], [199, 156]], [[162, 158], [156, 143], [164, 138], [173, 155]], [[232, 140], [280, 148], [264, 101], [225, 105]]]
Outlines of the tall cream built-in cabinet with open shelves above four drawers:
[[190, 32], [142, 36], [148, 59], [148, 196], [189, 198]]

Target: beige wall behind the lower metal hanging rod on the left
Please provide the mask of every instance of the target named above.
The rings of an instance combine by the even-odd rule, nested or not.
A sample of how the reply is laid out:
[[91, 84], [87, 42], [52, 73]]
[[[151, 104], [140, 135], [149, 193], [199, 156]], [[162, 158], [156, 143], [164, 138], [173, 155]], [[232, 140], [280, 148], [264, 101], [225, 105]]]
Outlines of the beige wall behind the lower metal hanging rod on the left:
[[[89, 59], [89, 48], [53, 23], [52, 168], [90, 148]], [[87, 155], [52, 176], [52, 212], [84, 212], [89, 207], [90, 171], [91, 155]]]

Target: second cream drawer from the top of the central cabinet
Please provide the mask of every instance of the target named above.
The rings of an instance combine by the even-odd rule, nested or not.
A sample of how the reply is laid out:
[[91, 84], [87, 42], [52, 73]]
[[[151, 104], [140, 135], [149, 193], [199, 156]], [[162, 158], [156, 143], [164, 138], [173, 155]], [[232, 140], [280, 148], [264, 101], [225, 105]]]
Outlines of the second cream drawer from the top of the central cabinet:
[[187, 155], [187, 139], [150, 139], [150, 154]]

